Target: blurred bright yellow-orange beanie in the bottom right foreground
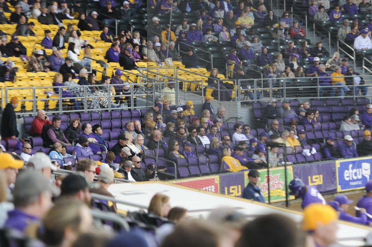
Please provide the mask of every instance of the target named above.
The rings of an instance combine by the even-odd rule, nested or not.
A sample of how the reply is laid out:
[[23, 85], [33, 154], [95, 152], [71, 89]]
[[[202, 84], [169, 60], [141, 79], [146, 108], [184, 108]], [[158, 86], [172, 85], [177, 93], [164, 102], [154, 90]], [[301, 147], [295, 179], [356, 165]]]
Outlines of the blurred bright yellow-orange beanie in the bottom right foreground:
[[310, 204], [304, 209], [302, 228], [306, 231], [316, 230], [318, 224], [328, 225], [338, 219], [339, 216], [330, 205], [320, 203]]

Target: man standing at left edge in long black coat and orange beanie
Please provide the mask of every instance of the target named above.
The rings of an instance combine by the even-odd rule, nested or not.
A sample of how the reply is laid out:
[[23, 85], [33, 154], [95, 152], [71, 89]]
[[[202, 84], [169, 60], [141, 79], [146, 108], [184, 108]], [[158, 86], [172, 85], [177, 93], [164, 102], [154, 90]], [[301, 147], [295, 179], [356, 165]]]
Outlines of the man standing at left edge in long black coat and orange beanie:
[[19, 132], [17, 131], [16, 112], [14, 109], [18, 106], [18, 98], [13, 97], [5, 106], [1, 119], [1, 136], [3, 140], [17, 139]]

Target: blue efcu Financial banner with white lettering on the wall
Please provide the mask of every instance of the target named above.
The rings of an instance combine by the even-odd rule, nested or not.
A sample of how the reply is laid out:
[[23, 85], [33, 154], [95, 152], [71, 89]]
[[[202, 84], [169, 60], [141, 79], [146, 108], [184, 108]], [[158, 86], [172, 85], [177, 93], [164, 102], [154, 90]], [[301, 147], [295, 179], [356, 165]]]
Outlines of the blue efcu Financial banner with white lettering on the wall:
[[372, 158], [336, 160], [337, 192], [363, 189], [371, 177]]

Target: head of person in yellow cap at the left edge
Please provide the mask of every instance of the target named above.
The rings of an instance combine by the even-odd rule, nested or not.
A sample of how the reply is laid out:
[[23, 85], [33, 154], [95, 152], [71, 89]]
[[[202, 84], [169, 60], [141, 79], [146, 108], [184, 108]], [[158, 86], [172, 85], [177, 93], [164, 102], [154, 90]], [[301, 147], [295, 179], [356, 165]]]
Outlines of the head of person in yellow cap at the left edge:
[[18, 170], [23, 167], [23, 164], [23, 160], [16, 160], [11, 154], [0, 154], [0, 169], [4, 171], [8, 187], [16, 182]]

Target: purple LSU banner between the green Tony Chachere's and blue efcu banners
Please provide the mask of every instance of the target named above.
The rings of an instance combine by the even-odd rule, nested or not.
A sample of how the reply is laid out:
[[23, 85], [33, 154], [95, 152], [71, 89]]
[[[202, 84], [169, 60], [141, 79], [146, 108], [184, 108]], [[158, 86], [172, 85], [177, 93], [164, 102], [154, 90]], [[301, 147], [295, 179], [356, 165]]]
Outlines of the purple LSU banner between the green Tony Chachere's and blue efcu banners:
[[293, 166], [294, 177], [312, 185], [322, 194], [335, 193], [336, 167], [334, 161]]

